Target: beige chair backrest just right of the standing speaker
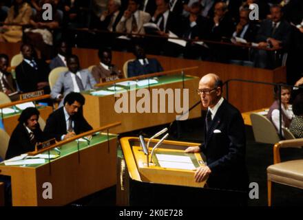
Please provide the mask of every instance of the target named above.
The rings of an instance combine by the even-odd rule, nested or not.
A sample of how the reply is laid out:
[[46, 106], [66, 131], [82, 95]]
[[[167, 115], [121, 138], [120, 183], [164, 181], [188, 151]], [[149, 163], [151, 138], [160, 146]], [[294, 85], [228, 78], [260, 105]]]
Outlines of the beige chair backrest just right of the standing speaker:
[[275, 144], [280, 141], [275, 126], [263, 115], [251, 113], [251, 125], [253, 126], [255, 142]]

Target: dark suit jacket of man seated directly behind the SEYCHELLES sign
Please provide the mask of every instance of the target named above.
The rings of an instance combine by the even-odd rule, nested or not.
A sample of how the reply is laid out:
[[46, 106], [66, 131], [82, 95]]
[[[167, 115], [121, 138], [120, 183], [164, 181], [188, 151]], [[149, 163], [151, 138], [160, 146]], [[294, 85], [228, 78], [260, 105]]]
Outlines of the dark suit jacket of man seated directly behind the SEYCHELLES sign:
[[[45, 61], [35, 60], [38, 69], [34, 69], [31, 65], [22, 61], [16, 67], [16, 79], [19, 89], [23, 92], [36, 91], [37, 83], [48, 82], [48, 74], [50, 68]], [[45, 88], [45, 94], [50, 93], [50, 87]]]

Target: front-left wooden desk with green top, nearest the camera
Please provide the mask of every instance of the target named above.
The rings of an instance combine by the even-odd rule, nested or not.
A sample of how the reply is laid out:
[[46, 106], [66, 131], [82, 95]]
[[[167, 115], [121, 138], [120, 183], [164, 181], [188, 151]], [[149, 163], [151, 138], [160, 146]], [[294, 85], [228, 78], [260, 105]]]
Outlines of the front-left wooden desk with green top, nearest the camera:
[[[116, 184], [116, 135], [96, 135], [90, 146], [61, 146], [50, 163], [28, 166], [0, 164], [0, 174], [12, 177], [13, 206], [63, 206]], [[51, 151], [51, 153], [54, 153]], [[43, 199], [43, 183], [52, 184], [52, 199]]]

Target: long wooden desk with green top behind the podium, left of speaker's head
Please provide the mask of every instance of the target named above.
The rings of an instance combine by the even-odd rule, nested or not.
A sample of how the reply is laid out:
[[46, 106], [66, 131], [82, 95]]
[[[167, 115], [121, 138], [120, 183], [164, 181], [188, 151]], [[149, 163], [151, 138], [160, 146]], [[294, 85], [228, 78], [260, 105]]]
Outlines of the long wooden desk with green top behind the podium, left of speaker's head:
[[[200, 100], [196, 89], [198, 89], [199, 78], [196, 76], [185, 76], [184, 86], [185, 89], [189, 89], [189, 107], [194, 105]], [[118, 86], [118, 85], [117, 85]], [[178, 75], [167, 75], [158, 77], [158, 83], [150, 85], [149, 91], [151, 89], [181, 89], [183, 86], [182, 76]], [[112, 87], [112, 85], [111, 85]], [[120, 86], [119, 86], [120, 87]], [[148, 86], [136, 87], [136, 89], [146, 88]], [[103, 87], [106, 89], [106, 87]], [[136, 90], [137, 91], [137, 90]], [[127, 90], [127, 97], [132, 91]], [[181, 89], [182, 94], [182, 89]], [[112, 129], [112, 133], [123, 133], [127, 131], [134, 131], [137, 129], [144, 129], [149, 126], [156, 126], [160, 124], [167, 124], [173, 122], [176, 119], [176, 115], [181, 113], [176, 113], [175, 108], [173, 113], [167, 113], [167, 103], [171, 100], [168, 100], [167, 96], [165, 98], [165, 112], [166, 113], [116, 113], [114, 109], [114, 104], [119, 98], [114, 97], [114, 95], [108, 96], [92, 96], [89, 91], [83, 92], [85, 96], [85, 105], [83, 107], [84, 117], [87, 122], [92, 125], [93, 128], [98, 126], [103, 126], [104, 124], [110, 124], [115, 121], [121, 121], [121, 126], [117, 126]], [[136, 103], [140, 100], [141, 97], [136, 97]], [[152, 99], [152, 98], [151, 98]], [[181, 95], [181, 107], [182, 107]], [[158, 112], [160, 98], [158, 99]], [[130, 106], [130, 104], [129, 104]], [[129, 107], [130, 108], [130, 107]], [[152, 109], [152, 102], [150, 102], [150, 109]], [[189, 118], [198, 118], [201, 115], [201, 108], [196, 107], [189, 113]]]

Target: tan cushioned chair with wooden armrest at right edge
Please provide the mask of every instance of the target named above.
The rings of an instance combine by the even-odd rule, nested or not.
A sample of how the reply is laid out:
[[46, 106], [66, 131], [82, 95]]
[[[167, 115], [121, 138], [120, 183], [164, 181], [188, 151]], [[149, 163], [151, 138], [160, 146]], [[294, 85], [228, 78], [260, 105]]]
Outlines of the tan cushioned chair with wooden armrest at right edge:
[[267, 199], [271, 206], [272, 182], [303, 188], [303, 159], [281, 162], [280, 148], [301, 148], [303, 138], [282, 140], [273, 146], [273, 165], [267, 167]]

